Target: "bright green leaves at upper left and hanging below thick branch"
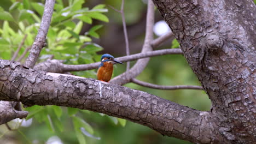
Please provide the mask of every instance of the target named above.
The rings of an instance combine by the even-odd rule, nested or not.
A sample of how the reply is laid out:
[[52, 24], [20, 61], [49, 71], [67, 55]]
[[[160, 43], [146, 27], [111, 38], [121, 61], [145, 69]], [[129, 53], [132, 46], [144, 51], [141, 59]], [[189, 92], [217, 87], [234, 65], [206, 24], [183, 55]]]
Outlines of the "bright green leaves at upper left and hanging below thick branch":
[[[47, 46], [40, 53], [39, 61], [45, 61], [54, 55], [56, 59], [63, 59], [68, 64], [95, 62], [96, 52], [103, 48], [92, 42], [91, 37], [100, 38], [97, 30], [102, 28], [102, 25], [95, 25], [84, 34], [82, 27], [92, 24], [93, 20], [108, 22], [108, 17], [103, 14], [108, 9], [103, 4], [96, 5], [92, 9], [82, 8], [84, 2], [85, 0], [68, 1], [68, 5], [65, 6], [61, 0], [56, 1], [46, 39]], [[43, 11], [44, 4], [29, 0], [13, 1], [8, 11], [0, 7], [0, 20], [3, 20], [3, 25], [0, 28], [0, 45], [2, 46], [0, 58], [11, 59], [25, 35], [27, 38], [19, 51], [19, 56], [33, 44]], [[90, 77], [95, 75], [95, 72], [91, 70], [86, 73], [75, 73], [75, 75]], [[63, 116], [61, 107], [34, 105], [25, 110], [30, 112], [26, 119], [33, 118], [39, 123], [46, 124], [51, 133], [65, 130], [61, 121]], [[78, 109], [68, 107], [67, 113], [73, 121], [73, 131], [75, 131], [79, 143], [86, 143], [85, 136], [95, 138], [92, 135], [93, 128], [84, 119], [77, 116], [80, 113]], [[125, 125], [124, 121], [120, 121], [120, 123]], [[98, 137], [96, 138], [98, 139]]]

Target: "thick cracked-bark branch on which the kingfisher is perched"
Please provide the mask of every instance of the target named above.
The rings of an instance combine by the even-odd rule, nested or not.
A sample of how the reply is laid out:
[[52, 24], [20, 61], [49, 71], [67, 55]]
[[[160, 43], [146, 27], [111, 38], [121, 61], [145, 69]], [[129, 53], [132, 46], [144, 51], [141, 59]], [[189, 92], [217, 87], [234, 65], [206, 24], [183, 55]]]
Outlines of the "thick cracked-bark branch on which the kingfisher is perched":
[[0, 60], [0, 100], [21, 101], [28, 106], [77, 107], [125, 118], [163, 135], [196, 143], [222, 141], [210, 112], [112, 83], [46, 73], [5, 60]]

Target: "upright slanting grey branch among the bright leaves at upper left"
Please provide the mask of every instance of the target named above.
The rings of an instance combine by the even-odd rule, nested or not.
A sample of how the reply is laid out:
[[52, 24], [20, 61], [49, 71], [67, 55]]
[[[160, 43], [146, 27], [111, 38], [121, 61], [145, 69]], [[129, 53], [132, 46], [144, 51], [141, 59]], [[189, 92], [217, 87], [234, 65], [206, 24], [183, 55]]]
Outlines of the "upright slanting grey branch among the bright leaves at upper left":
[[46, 0], [45, 2], [44, 14], [42, 17], [40, 28], [37, 33], [37, 37], [32, 45], [30, 55], [28, 55], [26, 62], [24, 64], [28, 68], [34, 67], [34, 65], [37, 62], [37, 58], [39, 57], [40, 52], [43, 46], [45, 45], [45, 38], [51, 23], [51, 16], [53, 16], [54, 3], [55, 0]]

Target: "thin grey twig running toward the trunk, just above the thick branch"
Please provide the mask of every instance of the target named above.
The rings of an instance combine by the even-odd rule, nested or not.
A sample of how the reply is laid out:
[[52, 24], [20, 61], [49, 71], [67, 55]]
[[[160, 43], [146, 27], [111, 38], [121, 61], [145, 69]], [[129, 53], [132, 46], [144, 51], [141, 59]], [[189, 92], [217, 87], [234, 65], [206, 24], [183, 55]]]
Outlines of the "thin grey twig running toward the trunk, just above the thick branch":
[[161, 86], [161, 85], [155, 85], [153, 83], [139, 81], [137, 79], [132, 79], [131, 82], [136, 83], [137, 85], [140, 85], [140, 86], [143, 86], [143, 87], [149, 87], [149, 88], [155, 88], [155, 89], [166, 89], [166, 90], [175, 90], [175, 89], [200, 89], [200, 90], [202, 90], [203, 89], [203, 87], [201, 87], [201, 86], [186, 86], [186, 85]]

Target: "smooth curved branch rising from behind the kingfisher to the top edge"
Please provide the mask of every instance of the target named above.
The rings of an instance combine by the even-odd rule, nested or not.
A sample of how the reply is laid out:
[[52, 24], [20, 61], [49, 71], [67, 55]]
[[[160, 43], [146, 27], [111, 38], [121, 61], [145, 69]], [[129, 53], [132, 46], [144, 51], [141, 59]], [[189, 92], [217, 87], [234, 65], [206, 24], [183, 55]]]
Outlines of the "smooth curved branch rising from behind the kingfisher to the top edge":
[[[147, 22], [146, 22], [146, 37], [144, 40], [144, 45], [142, 47], [142, 53], [152, 51], [152, 46], [150, 45], [150, 41], [153, 40], [153, 25], [154, 25], [154, 4], [151, 0], [148, 1], [148, 9], [147, 9]], [[139, 75], [144, 68], [147, 66], [149, 62], [149, 58], [139, 59], [135, 65], [125, 73], [114, 77], [114, 79], [110, 80], [110, 83], [116, 83], [118, 85], [124, 85], [127, 82], [130, 82], [131, 79]]]

